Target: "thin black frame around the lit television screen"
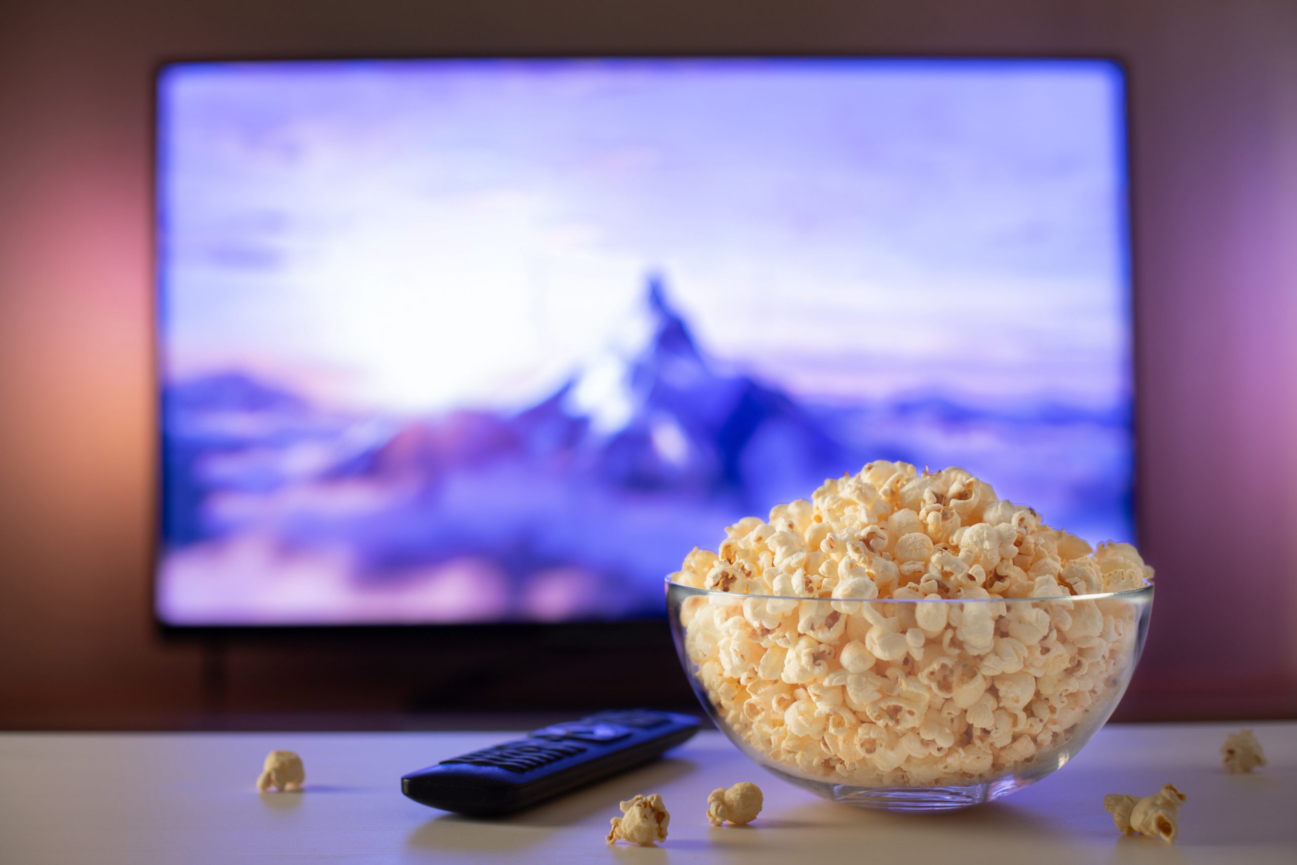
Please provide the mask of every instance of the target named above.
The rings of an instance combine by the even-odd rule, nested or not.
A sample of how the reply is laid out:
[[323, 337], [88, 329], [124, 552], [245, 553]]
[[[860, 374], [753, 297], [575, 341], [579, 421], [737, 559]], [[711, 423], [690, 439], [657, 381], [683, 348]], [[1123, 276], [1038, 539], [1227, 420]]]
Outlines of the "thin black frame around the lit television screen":
[[[294, 642], [302, 638], [346, 638], [359, 641], [374, 639], [416, 639], [429, 648], [446, 646], [451, 642], [462, 645], [463, 641], [507, 641], [516, 646], [542, 648], [551, 645], [555, 629], [563, 629], [564, 639], [562, 645], [567, 647], [588, 646], [617, 646], [672, 645], [665, 615], [656, 617], [634, 617], [616, 620], [572, 620], [558, 622], [537, 621], [492, 621], [492, 622], [281, 622], [281, 624], [176, 624], [166, 621], [158, 612], [158, 576], [162, 564], [162, 506], [166, 495], [166, 467], [163, 459], [162, 436], [162, 290], [160, 267], [160, 163], [158, 163], [158, 134], [160, 134], [160, 100], [158, 88], [162, 77], [169, 69], [175, 66], [189, 66], [201, 64], [319, 64], [319, 62], [349, 62], [349, 61], [475, 61], [475, 60], [506, 60], [506, 61], [565, 61], [565, 60], [901, 60], [901, 61], [992, 61], [992, 62], [1067, 62], [1084, 61], [1095, 64], [1108, 64], [1119, 79], [1122, 95], [1121, 140], [1123, 145], [1123, 158], [1119, 162], [1123, 171], [1124, 196], [1122, 213], [1119, 214], [1119, 228], [1124, 240], [1122, 245], [1123, 272], [1127, 294], [1127, 322], [1128, 322], [1128, 376], [1131, 386], [1131, 414], [1128, 431], [1131, 436], [1131, 521], [1132, 533], [1139, 541], [1140, 520], [1140, 459], [1139, 459], [1139, 318], [1137, 318], [1137, 272], [1135, 254], [1135, 188], [1132, 178], [1134, 166], [1134, 126], [1132, 126], [1132, 87], [1130, 64], [1124, 57], [1114, 53], [1086, 53], [1086, 52], [960, 52], [951, 51], [943, 53], [931, 52], [782, 52], [782, 51], [655, 51], [655, 52], [585, 52], [585, 51], [502, 51], [490, 53], [367, 53], [367, 54], [302, 54], [302, 56], [265, 56], [265, 54], [187, 54], [171, 56], [158, 60], [149, 77], [149, 284], [152, 294], [150, 305], [150, 357], [149, 357], [149, 386], [152, 388], [153, 405], [153, 459], [154, 480], [152, 484], [152, 514], [150, 538], [148, 551], [149, 591], [147, 593], [149, 604], [149, 620], [154, 632], [166, 639], [205, 639], [209, 642], [223, 642], [226, 638], [237, 637], [246, 639], [279, 641], [292, 638]], [[663, 575], [665, 578], [667, 575]], [[664, 589], [665, 595], [665, 589]], [[665, 611], [664, 611], [665, 613]]]

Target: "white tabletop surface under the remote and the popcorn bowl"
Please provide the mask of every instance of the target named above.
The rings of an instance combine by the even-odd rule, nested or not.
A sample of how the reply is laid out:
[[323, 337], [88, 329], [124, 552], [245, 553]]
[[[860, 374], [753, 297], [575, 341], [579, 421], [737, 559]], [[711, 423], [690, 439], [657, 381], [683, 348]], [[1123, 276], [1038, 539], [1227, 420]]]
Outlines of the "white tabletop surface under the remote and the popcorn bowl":
[[[886, 814], [834, 804], [752, 765], [719, 733], [506, 821], [424, 808], [401, 774], [499, 733], [0, 734], [0, 862], [1297, 862], [1297, 724], [1252, 725], [1270, 765], [1220, 770], [1240, 725], [1109, 726], [1053, 776], [990, 805]], [[258, 794], [266, 752], [306, 764], [301, 794]], [[755, 781], [765, 809], [712, 829], [707, 794]], [[1175, 847], [1123, 838], [1106, 792], [1188, 795]], [[617, 800], [659, 792], [658, 848], [607, 847]]]

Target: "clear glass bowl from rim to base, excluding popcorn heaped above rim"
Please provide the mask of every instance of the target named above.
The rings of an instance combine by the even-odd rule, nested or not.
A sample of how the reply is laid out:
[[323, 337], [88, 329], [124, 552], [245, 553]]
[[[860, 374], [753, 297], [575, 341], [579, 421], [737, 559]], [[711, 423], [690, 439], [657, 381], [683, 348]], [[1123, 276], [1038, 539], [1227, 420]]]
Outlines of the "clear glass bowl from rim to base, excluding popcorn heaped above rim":
[[991, 801], [1062, 766], [1126, 691], [1153, 586], [1057, 598], [830, 599], [667, 581], [694, 693], [757, 764], [852, 805]]

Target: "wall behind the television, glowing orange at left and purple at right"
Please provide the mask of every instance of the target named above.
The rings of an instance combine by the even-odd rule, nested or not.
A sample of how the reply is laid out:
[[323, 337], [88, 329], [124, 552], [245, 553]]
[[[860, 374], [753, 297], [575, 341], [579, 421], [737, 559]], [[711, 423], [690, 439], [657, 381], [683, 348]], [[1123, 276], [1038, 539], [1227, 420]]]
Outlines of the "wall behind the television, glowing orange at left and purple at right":
[[[1160, 587], [1123, 712], [1297, 713], [1297, 4], [8, 0], [0, 725], [148, 725], [210, 696], [201, 647], [160, 643], [148, 619], [152, 66], [510, 49], [1126, 57], [1139, 510]], [[235, 708], [393, 709], [438, 651], [241, 646], [206, 681], [224, 676]], [[582, 670], [571, 681], [615, 687]]]

